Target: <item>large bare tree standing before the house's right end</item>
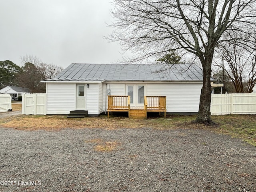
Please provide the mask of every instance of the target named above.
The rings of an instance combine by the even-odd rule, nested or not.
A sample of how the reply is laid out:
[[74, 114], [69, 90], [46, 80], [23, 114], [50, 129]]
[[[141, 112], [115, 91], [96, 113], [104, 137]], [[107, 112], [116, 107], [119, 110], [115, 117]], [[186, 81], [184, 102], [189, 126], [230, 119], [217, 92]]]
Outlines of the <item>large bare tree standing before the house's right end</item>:
[[130, 62], [159, 58], [177, 49], [200, 60], [203, 86], [196, 122], [212, 124], [210, 77], [215, 48], [226, 41], [222, 37], [228, 32], [248, 34], [255, 28], [256, 0], [114, 0], [113, 4], [115, 30], [108, 39], [134, 52]]

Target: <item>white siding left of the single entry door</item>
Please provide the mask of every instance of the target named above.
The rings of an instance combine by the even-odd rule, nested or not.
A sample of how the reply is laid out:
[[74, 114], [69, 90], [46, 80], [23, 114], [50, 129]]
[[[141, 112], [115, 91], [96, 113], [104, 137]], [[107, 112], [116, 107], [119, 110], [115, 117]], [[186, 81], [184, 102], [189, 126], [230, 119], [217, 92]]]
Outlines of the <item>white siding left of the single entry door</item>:
[[46, 114], [69, 114], [76, 109], [75, 83], [47, 83]]

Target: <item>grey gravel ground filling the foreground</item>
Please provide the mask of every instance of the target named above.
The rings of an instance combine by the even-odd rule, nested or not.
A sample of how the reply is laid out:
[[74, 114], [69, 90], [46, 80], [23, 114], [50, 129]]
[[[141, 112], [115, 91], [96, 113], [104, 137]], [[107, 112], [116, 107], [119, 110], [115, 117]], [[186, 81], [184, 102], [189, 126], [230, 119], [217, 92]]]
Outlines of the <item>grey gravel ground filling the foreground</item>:
[[1, 192], [256, 192], [256, 147], [208, 130], [0, 128], [0, 143]]

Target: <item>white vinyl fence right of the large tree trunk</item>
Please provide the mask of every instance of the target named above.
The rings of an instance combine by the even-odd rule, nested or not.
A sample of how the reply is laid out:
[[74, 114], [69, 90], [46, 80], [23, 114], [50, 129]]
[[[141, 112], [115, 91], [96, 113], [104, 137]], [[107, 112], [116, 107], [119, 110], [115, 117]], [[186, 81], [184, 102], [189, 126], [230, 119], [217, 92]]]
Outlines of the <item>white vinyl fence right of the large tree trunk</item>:
[[256, 93], [212, 94], [211, 114], [256, 114]]

